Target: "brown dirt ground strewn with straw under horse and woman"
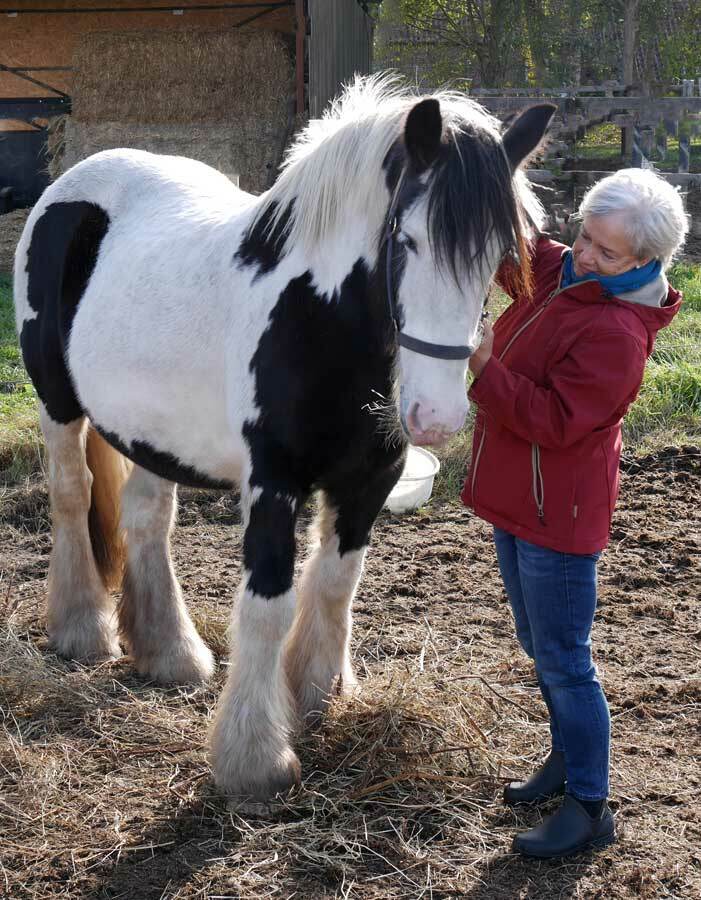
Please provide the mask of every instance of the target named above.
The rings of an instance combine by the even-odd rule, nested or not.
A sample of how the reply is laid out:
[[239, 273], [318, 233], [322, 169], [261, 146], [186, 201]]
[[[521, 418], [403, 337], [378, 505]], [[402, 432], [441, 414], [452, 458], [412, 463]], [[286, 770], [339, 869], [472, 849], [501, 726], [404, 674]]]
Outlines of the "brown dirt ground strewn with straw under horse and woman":
[[[455, 505], [382, 517], [354, 606], [359, 697], [296, 739], [302, 787], [219, 797], [206, 729], [240, 571], [229, 497], [184, 495], [174, 553], [218, 655], [207, 689], [129, 660], [46, 649], [46, 495], [0, 515], [0, 896], [701, 897], [701, 449], [629, 461], [600, 566], [594, 646], [613, 726], [619, 842], [565, 861], [510, 852], [536, 809], [500, 802], [547, 743], [489, 528]], [[300, 534], [300, 539], [303, 534]]]

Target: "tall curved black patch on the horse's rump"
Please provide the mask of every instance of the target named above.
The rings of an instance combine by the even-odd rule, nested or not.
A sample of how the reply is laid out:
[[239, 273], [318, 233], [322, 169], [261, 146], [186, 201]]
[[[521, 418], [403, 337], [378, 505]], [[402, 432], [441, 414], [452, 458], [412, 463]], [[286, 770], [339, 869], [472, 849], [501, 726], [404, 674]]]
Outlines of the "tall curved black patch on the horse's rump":
[[61, 424], [83, 414], [66, 366], [66, 347], [109, 224], [95, 203], [52, 203], [32, 231], [27, 293], [37, 316], [24, 322], [20, 346], [39, 398]]

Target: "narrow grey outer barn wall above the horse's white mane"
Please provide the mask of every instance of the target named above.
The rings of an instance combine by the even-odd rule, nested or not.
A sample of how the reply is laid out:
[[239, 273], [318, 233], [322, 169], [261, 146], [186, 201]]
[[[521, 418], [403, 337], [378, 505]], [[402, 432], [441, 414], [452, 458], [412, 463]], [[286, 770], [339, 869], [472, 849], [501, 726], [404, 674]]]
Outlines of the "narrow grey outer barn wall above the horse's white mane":
[[372, 21], [357, 0], [309, 0], [309, 115], [318, 118], [339, 87], [372, 68]]

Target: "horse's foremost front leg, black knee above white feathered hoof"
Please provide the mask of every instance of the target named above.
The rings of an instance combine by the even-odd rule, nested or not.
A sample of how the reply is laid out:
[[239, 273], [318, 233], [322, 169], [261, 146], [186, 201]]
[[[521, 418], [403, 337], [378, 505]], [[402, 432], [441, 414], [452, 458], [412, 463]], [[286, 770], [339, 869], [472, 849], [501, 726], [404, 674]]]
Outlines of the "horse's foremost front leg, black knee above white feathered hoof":
[[242, 496], [244, 577], [231, 628], [231, 663], [210, 735], [217, 786], [266, 799], [299, 782], [290, 746], [293, 706], [282, 648], [295, 609], [299, 498], [255, 488]]

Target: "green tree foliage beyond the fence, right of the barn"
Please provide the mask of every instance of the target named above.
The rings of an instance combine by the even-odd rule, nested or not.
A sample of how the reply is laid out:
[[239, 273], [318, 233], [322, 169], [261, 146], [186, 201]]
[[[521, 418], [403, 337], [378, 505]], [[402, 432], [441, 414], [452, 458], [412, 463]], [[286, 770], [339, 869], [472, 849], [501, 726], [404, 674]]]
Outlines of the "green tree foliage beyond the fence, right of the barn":
[[473, 86], [690, 78], [701, 74], [697, 16], [698, 0], [384, 0], [381, 49]]

